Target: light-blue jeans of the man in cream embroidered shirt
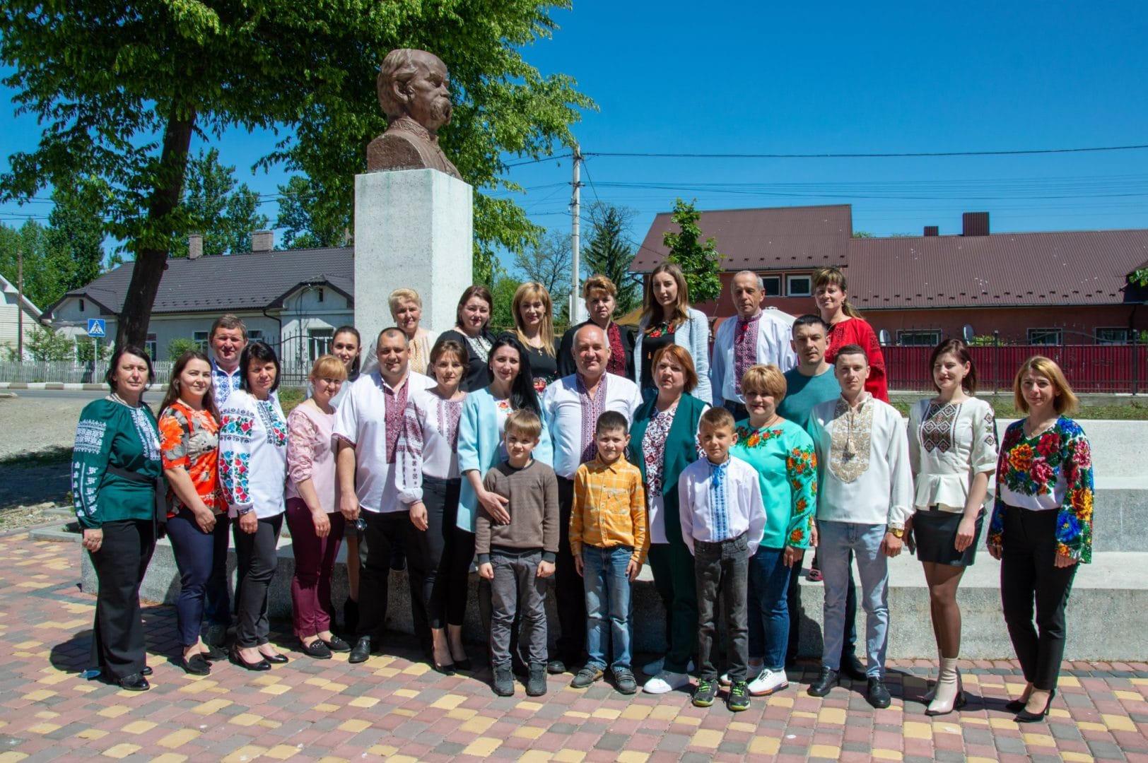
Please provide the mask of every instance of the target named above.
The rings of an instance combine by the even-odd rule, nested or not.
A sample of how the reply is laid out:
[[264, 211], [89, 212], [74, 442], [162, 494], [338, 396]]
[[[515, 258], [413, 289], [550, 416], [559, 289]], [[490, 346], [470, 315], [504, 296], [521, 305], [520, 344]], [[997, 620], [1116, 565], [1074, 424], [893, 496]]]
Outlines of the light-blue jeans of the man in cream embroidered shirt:
[[866, 612], [866, 674], [882, 678], [889, 646], [889, 559], [881, 551], [884, 524], [817, 522], [821, 574], [825, 583], [825, 644], [821, 663], [840, 669], [845, 634], [845, 597], [850, 578], [850, 551], [856, 555], [861, 575], [861, 606]]

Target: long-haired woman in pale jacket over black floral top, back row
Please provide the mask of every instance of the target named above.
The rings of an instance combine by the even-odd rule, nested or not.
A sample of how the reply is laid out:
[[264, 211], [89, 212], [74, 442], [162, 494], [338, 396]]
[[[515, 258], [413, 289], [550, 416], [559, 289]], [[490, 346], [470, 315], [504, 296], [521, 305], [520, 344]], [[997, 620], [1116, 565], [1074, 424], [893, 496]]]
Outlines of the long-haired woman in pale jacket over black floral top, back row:
[[695, 397], [708, 400], [709, 322], [705, 313], [690, 306], [685, 275], [676, 263], [653, 268], [642, 304], [642, 320], [634, 340], [634, 381], [643, 396], [658, 394], [653, 379], [653, 357], [664, 347], [677, 344], [690, 352], [698, 374]]

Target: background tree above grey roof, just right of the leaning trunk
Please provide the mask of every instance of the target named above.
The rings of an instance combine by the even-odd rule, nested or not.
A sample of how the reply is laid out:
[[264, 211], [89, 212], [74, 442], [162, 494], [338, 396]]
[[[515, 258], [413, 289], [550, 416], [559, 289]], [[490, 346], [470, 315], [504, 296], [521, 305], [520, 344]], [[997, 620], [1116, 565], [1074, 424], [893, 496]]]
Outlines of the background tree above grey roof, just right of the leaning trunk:
[[219, 164], [216, 148], [200, 153], [187, 163], [187, 181], [180, 202], [187, 223], [171, 242], [172, 257], [186, 257], [188, 235], [203, 234], [204, 255], [251, 250], [251, 231], [267, 226], [258, 213], [259, 195], [246, 182], [236, 182], [235, 168]]

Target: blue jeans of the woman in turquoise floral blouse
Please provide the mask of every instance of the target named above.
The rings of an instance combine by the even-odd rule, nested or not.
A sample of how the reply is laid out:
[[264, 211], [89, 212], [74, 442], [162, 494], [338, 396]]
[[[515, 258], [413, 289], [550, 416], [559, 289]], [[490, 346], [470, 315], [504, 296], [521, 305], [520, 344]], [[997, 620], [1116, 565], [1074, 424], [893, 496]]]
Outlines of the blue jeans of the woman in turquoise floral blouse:
[[769, 670], [785, 669], [791, 571], [784, 548], [759, 546], [750, 556], [750, 656], [761, 657]]

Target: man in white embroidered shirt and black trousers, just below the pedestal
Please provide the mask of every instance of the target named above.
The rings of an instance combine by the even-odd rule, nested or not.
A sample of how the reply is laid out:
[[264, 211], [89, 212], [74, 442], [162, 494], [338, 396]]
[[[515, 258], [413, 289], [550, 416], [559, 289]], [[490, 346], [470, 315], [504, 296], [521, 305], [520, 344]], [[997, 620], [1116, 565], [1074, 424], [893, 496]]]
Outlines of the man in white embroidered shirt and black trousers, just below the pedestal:
[[351, 384], [334, 426], [339, 441], [339, 508], [347, 521], [362, 519], [364, 525], [359, 540], [358, 640], [348, 662], [366, 661], [381, 644], [391, 546], [404, 536], [410, 538], [405, 546], [414, 636], [424, 651], [430, 647], [430, 626], [420, 593], [422, 559], [410, 513], [398, 500], [395, 453], [409, 394], [433, 387], [434, 380], [410, 373], [406, 335], [398, 328], [385, 328], [379, 334], [375, 352], [379, 367]]

